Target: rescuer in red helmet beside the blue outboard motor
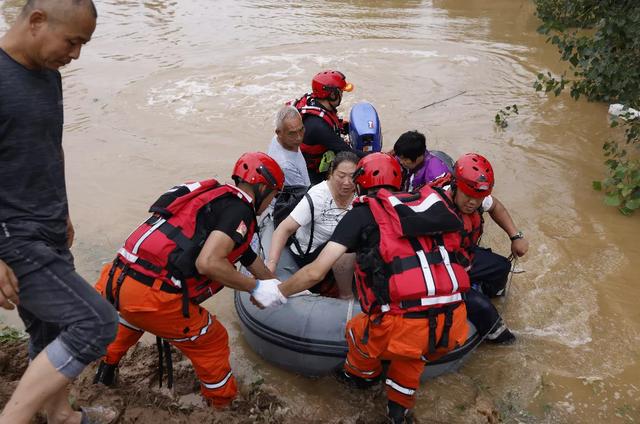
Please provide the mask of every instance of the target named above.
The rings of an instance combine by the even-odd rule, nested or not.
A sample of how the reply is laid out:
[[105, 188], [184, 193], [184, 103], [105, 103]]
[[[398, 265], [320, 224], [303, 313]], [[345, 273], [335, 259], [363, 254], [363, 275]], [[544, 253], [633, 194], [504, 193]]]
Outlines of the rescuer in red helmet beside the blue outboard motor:
[[365, 153], [352, 149], [342, 139], [348, 134], [348, 126], [338, 117], [337, 108], [342, 94], [351, 92], [353, 84], [347, 82], [342, 72], [326, 70], [311, 80], [311, 94], [291, 102], [304, 122], [304, 141], [300, 146], [311, 184], [318, 184], [327, 177], [329, 164], [335, 154], [350, 151], [362, 157]]

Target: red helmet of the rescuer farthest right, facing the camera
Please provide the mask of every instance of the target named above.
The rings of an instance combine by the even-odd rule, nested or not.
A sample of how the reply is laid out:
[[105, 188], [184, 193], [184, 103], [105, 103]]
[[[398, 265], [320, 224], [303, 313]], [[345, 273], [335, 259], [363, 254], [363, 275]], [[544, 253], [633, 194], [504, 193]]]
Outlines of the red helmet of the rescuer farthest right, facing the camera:
[[489, 161], [477, 153], [465, 153], [453, 167], [457, 187], [467, 196], [485, 197], [491, 194], [495, 178]]

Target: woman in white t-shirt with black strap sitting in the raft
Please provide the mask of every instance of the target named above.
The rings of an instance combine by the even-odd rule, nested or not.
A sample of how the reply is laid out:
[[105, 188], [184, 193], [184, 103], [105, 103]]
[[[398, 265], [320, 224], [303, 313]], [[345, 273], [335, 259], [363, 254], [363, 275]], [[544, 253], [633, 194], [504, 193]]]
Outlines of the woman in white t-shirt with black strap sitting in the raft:
[[[342, 217], [351, 209], [355, 195], [353, 174], [358, 160], [358, 156], [351, 152], [339, 152], [329, 169], [329, 178], [311, 187], [291, 214], [278, 225], [267, 260], [267, 267], [272, 272], [275, 272], [287, 244], [299, 267], [313, 262], [322, 251]], [[333, 266], [331, 275], [311, 291], [342, 299], [353, 297], [354, 261], [354, 255], [343, 255]]]

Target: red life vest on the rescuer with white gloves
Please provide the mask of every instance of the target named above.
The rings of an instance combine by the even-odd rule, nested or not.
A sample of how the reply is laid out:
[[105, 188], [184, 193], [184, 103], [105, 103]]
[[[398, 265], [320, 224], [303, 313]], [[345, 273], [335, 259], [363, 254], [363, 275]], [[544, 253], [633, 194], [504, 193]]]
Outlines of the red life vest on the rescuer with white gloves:
[[[236, 196], [253, 210], [252, 200], [245, 193], [213, 179], [172, 188], [151, 206], [149, 212], [153, 215], [129, 235], [116, 259], [127, 269], [181, 289], [197, 303], [211, 297], [223, 285], [196, 269], [196, 258], [209, 236], [196, 220], [203, 207], [224, 196]], [[244, 224], [246, 227], [237, 231], [246, 234], [245, 242], [227, 256], [232, 264], [247, 250], [255, 231], [255, 219]]]

